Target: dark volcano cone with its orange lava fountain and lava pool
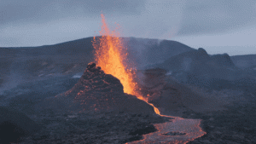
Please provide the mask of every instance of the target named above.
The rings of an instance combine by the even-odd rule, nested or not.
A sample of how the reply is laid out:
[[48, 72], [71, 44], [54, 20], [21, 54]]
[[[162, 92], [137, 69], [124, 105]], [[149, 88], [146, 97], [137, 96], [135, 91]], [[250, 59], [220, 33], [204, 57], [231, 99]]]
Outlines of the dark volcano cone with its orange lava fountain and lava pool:
[[[51, 112], [130, 112], [143, 114], [158, 114], [174, 119], [173, 122], [155, 125], [160, 132], [154, 134], [154, 140], [146, 137], [143, 141], [164, 141], [165, 143], [186, 143], [205, 135], [199, 126], [201, 120], [175, 118], [161, 115], [148, 98], [140, 94], [136, 80], [136, 69], [126, 60], [126, 49], [118, 33], [110, 32], [105, 17], [102, 14], [102, 37], [94, 37], [95, 63], [90, 63], [79, 82], [67, 92], [56, 95], [44, 101], [43, 107]], [[186, 125], [183, 127], [183, 125]], [[163, 136], [161, 133], [172, 131], [173, 125], [179, 127], [178, 133], [183, 136]], [[183, 127], [183, 128], [182, 128]], [[153, 130], [153, 129], [152, 129]], [[160, 140], [159, 140], [160, 139]], [[178, 142], [177, 142], [178, 141]], [[141, 141], [139, 141], [141, 142]]]

